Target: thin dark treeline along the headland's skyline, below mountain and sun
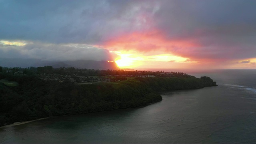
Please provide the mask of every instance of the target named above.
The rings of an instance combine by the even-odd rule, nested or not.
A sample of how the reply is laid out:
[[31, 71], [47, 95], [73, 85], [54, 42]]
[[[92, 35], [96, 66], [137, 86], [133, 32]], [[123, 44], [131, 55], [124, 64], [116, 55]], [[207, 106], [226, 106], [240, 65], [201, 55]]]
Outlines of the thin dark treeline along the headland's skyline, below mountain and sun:
[[48, 74], [60, 74], [70, 75], [75, 74], [78, 76], [138, 76], [138, 75], [154, 75], [157, 77], [192, 77], [183, 72], [164, 72], [162, 71], [145, 71], [145, 70], [95, 70], [86, 68], [74, 68], [74, 67], [60, 67], [53, 68], [52, 66], [44, 67], [28, 67], [28, 68], [8, 68], [0, 67], [0, 72], [10, 74], [26, 74], [26, 75], [48, 75]]

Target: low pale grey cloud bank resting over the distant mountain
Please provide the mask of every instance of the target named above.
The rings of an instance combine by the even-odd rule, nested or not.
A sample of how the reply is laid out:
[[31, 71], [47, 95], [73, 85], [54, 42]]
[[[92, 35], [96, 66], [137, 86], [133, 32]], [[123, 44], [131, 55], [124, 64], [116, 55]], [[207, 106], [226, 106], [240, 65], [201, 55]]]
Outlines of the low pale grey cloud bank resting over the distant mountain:
[[114, 60], [116, 54], [106, 49], [82, 44], [32, 43], [24, 46], [0, 44], [0, 58], [33, 58], [39, 60]]

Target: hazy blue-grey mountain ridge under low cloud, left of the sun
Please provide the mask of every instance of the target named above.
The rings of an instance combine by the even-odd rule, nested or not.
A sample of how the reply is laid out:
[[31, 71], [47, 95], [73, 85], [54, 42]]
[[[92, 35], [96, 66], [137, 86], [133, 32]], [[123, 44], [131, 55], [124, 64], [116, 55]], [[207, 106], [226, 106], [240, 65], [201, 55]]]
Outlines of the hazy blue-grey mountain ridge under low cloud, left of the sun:
[[54, 68], [60, 67], [74, 67], [74, 68], [87, 68], [98, 70], [118, 70], [116, 62], [107, 61], [94, 61], [94, 60], [75, 60], [75, 61], [43, 61], [38, 59], [22, 59], [22, 58], [0, 58], [0, 66], [4, 67], [22, 67], [28, 66], [53, 66]]

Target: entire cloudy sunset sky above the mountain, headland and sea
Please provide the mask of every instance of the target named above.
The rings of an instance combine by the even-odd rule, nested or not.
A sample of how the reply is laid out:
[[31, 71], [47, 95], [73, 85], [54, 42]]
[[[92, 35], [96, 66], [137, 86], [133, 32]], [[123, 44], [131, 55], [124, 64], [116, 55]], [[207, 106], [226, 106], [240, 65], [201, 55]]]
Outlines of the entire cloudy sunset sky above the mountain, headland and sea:
[[256, 68], [255, 0], [0, 0], [0, 58]]

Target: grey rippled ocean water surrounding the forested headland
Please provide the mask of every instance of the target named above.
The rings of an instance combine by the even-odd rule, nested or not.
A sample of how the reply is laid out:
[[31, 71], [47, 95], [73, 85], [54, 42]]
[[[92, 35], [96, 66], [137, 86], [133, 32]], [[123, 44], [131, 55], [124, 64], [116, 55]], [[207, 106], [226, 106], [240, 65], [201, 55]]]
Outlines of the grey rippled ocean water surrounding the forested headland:
[[181, 72], [210, 76], [218, 86], [164, 92], [142, 108], [2, 127], [0, 143], [256, 143], [256, 70]]

